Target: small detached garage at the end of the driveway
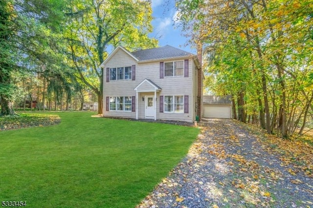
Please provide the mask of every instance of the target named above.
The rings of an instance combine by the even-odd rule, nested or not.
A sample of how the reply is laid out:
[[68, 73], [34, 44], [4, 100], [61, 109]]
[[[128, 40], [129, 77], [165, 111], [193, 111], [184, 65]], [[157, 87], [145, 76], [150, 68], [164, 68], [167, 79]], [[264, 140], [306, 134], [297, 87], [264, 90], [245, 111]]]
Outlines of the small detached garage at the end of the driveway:
[[231, 96], [203, 96], [203, 117], [230, 119]]

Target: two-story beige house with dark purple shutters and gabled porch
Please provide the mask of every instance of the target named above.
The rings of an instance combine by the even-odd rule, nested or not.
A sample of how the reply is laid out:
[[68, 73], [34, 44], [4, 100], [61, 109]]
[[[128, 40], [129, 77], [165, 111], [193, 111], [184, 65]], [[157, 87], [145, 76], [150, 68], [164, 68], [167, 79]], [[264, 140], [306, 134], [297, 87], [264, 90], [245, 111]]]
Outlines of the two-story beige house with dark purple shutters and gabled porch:
[[194, 122], [201, 113], [194, 54], [169, 45], [134, 52], [117, 46], [101, 67], [104, 117]]

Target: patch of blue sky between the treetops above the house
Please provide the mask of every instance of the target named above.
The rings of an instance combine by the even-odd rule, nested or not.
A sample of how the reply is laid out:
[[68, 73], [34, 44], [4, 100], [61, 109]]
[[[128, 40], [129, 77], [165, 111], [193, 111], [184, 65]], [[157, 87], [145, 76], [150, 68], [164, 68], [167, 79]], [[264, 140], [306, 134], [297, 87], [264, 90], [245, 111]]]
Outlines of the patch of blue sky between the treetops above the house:
[[154, 31], [150, 37], [158, 39], [159, 46], [171, 45], [195, 53], [190, 45], [186, 45], [187, 39], [182, 35], [178, 22], [174, 21], [178, 15], [175, 0], [169, 0], [169, 4], [165, 4], [164, 0], [152, 0], [152, 10]]

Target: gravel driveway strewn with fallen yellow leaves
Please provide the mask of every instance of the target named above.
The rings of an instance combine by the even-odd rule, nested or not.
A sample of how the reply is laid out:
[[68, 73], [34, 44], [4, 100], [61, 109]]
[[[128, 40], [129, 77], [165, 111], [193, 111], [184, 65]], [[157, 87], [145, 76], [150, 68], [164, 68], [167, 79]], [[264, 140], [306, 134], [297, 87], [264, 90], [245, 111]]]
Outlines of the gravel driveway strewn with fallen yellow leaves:
[[200, 126], [187, 156], [137, 208], [313, 207], [313, 178], [282, 165], [246, 125], [207, 119]]

